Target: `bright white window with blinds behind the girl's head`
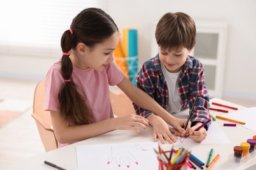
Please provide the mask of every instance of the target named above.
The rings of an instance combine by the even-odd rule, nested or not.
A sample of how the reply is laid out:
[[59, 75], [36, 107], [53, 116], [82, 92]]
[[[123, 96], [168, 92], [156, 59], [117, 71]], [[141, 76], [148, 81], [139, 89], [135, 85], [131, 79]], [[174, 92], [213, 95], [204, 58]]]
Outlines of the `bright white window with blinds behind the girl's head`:
[[100, 0], [9, 0], [0, 3], [0, 56], [60, 58], [60, 39], [87, 7], [104, 10]]

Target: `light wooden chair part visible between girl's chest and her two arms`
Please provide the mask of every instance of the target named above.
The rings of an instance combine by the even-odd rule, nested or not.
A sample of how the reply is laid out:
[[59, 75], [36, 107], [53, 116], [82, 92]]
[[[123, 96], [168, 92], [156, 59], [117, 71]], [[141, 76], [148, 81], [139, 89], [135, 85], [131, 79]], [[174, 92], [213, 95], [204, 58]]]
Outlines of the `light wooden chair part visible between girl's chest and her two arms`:
[[135, 114], [133, 102], [121, 90], [117, 93], [110, 91], [110, 103], [112, 106], [113, 113], [116, 116]]

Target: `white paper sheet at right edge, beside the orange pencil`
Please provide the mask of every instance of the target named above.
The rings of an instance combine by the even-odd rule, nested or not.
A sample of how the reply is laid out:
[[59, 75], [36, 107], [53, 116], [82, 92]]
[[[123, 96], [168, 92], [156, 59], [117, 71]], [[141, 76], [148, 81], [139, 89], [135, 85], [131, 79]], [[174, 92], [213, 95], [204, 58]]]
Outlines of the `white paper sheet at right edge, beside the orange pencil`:
[[238, 124], [240, 126], [244, 126], [247, 129], [256, 132], [256, 107], [250, 107], [248, 109], [238, 110], [236, 112], [222, 114], [224, 118], [230, 118], [233, 120], [238, 120], [240, 122], [245, 122], [245, 125]]

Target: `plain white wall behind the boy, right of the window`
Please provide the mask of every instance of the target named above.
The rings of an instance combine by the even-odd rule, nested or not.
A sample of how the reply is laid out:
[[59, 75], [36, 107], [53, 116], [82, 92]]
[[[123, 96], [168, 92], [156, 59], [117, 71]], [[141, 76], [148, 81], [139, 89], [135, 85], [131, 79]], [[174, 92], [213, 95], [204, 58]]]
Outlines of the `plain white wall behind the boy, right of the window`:
[[[228, 23], [223, 97], [256, 99], [256, 1], [254, 0], [108, 0], [108, 13], [119, 26], [135, 27], [139, 34], [139, 62], [150, 54], [152, 23], [165, 12], [186, 12], [194, 20]], [[195, 56], [196, 57], [196, 56]]]

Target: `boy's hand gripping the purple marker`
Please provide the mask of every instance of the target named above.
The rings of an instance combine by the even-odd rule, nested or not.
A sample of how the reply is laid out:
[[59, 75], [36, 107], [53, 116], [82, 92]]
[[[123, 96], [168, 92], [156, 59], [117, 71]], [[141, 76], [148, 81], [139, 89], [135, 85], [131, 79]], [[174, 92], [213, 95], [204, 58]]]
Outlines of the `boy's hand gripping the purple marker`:
[[198, 122], [198, 124], [189, 129], [190, 139], [198, 143], [202, 142], [207, 136], [207, 131], [204, 127], [200, 128], [198, 131], [195, 131], [195, 129], [200, 125], [202, 125], [202, 123]]

